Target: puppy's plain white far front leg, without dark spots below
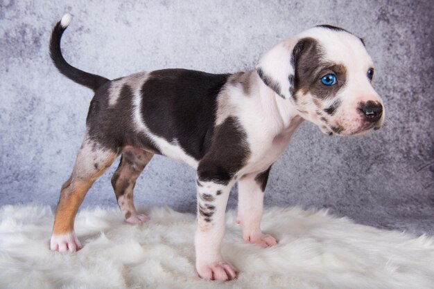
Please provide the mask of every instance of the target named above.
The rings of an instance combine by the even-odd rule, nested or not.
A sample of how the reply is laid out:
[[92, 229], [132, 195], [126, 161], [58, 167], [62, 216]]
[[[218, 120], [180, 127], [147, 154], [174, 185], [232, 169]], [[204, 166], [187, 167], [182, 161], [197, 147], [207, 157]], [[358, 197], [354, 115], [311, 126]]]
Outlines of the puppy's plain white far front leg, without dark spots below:
[[[270, 167], [271, 168], [271, 167]], [[266, 189], [270, 168], [259, 174], [247, 174], [238, 180], [238, 218], [244, 241], [263, 248], [276, 245], [274, 237], [261, 232], [263, 192]]]

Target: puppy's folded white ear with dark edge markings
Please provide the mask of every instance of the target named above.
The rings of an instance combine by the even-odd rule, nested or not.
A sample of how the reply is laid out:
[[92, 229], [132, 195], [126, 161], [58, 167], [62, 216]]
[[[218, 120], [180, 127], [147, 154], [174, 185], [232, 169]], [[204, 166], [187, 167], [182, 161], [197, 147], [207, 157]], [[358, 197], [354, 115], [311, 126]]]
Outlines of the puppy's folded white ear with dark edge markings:
[[284, 99], [293, 97], [297, 61], [309, 50], [311, 38], [288, 38], [271, 48], [256, 66], [261, 80]]

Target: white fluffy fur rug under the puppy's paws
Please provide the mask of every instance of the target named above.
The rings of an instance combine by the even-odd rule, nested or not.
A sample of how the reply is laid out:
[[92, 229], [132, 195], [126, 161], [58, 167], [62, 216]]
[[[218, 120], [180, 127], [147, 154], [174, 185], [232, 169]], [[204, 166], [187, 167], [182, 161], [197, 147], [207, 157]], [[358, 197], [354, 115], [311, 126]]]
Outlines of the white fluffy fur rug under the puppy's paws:
[[118, 209], [84, 209], [76, 232], [84, 248], [49, 250], [49, 207], [0, 209], [0, 288], [434, 288], [434, 242], [357, 225], [324, 211], [266, 209], [262, 228], [279, 244], [244, 243], [227, 214], [223, 255], [241, 272], [227, 283], [203, 281], [194, 269], [195, 216], [144, 210], [129, 225]]

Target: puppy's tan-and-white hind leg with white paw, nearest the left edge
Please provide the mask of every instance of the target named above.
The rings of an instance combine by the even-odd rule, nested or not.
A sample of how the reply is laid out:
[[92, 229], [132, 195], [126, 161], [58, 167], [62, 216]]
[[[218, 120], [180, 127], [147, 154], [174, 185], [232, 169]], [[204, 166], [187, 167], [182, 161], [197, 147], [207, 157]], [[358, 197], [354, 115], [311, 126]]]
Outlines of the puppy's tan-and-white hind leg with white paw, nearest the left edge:
[[85, 138], [78, 151], [71, 177], [62, 185], [60, 191], [51, 235], [51, 250], [74, 252], [81, 248], [73, 230], [78, 207], [94, 181], [112, 165], [116, 156], [117, 151], [106, 149], [97, 142]]

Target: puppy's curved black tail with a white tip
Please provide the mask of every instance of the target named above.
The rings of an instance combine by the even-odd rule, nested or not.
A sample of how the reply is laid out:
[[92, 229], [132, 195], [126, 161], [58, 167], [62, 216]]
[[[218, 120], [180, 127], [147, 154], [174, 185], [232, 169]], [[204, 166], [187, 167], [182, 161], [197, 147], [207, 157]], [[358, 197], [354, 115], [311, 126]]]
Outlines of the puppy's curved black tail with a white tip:
[[110, 80], [107, 80], [107, 78], [99, 75], [80, 71], [80, 69], [71, 66], [63, 58], [62, 50], [60, 50], [60, 40], [62, 39], [64, 30], [67, 29], [70, 22], [71, 15], [65, 14], [63, 15], [62, 19], [55, 24], [53, 32], [51, 32], [50, 39], [51, 59], [53, 59], [55, 67], [57, 67], [60, 73], [62, 73], [64, 76], [68, 77], [74, 82], [77, 82], [78, 84], [84, 85], [93, 91], [96, 91], [99, 87]]

